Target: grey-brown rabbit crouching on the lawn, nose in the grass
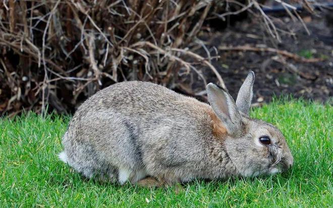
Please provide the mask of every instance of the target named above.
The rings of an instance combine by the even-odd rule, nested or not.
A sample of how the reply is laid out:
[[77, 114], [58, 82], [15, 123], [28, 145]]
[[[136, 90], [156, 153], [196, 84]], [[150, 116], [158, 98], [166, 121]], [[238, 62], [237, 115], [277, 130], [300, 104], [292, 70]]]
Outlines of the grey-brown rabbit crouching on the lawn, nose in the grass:
[[88, 98], [72, 117], [59, 158], [87, 178], [175, 185], [195, 179], [287, 171], [282, 132], [249, 117], [254, 73], [236, 103], [215, 84], [210, 105], [149, 82], [121, 82]]

